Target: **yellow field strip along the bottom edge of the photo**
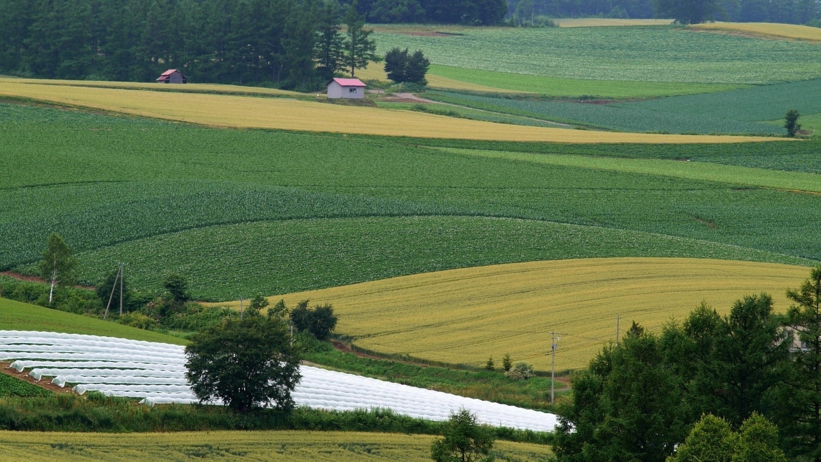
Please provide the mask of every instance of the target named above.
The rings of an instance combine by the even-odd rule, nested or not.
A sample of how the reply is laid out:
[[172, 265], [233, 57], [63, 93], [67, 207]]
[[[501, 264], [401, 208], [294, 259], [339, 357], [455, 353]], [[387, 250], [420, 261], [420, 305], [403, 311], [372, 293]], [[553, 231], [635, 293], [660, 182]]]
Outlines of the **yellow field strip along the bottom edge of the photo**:
[[[0, 432], [0, 461], [154, 462], [430, 460], [428, 435], [362, 432]], [[496, 441], [506, 460], [545, 460], [548, 446]]]

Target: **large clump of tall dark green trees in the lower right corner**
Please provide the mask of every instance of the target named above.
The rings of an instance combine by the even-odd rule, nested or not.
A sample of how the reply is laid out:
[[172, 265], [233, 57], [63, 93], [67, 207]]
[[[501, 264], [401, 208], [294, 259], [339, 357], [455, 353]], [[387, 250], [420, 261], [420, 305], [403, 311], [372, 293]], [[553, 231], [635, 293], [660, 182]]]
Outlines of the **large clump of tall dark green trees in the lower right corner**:
[[663, 461], [708, 414], [736, 431], [760, 414], [787, 455], [821, 460], [821, 266], [787, 296], [785, 315], [761, 294], [727, 316], [703, 304], [660, 335], [634, 324], [573, 379], [559, 460]]

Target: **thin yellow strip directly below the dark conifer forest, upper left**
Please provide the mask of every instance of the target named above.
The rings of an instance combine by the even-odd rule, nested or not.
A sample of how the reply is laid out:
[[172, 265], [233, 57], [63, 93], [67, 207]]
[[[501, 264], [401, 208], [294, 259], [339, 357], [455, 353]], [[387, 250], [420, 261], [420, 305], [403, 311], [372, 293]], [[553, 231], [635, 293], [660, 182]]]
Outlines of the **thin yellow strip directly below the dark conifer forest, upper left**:
[[186, 85], [172, 85], [147, 82], [112, 82], [112, 81], [60, 81], [48, 79], [16, 79], [0, 78], [0, 82], [9, 83], [29, 83], [43, 85], [68, 85], [68, 86], [89, 86], [98, 88], [122, 88], [126, 90], [158, 90], [158, 91], [182, 91], [189, 93], [221, 93], [236, 95], [259, 95], [259, 96], [291, 96], [305, 97], [304, 93], [296, 91], [277, 90], [275, 88], [263, 88], [242, 85], [219, 85], [210, 83], [189, 83]]

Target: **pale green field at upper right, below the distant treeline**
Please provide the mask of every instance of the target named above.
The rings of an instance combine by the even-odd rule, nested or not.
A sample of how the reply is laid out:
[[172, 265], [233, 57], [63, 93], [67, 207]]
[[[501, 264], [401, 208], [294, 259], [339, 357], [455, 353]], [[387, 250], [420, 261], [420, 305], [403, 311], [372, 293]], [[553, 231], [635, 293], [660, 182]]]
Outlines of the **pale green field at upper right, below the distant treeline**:
[[[422, 49], [433, 64], [564, 79], [768, 84], [821, 77], [821, 47], [675, 26], [379, 32], [378, 53]], [[582, 82], [584, 83], [584, 82]]]

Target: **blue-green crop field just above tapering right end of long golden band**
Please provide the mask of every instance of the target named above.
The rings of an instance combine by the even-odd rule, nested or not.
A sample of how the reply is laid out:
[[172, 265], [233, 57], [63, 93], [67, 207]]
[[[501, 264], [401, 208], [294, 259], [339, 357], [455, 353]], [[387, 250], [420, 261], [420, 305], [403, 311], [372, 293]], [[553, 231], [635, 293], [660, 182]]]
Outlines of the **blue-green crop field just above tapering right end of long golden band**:
[[624, 132], [784, 135], [783, 121], [777, 124], [759, 121], [783, 118], [788, 109], [798, 109], [805, 116], [821, 113], [821, 80], [612, 104], [506, 99], [437, 91], [429, 91], [425, 96], [500, 115], [511, 114]]

